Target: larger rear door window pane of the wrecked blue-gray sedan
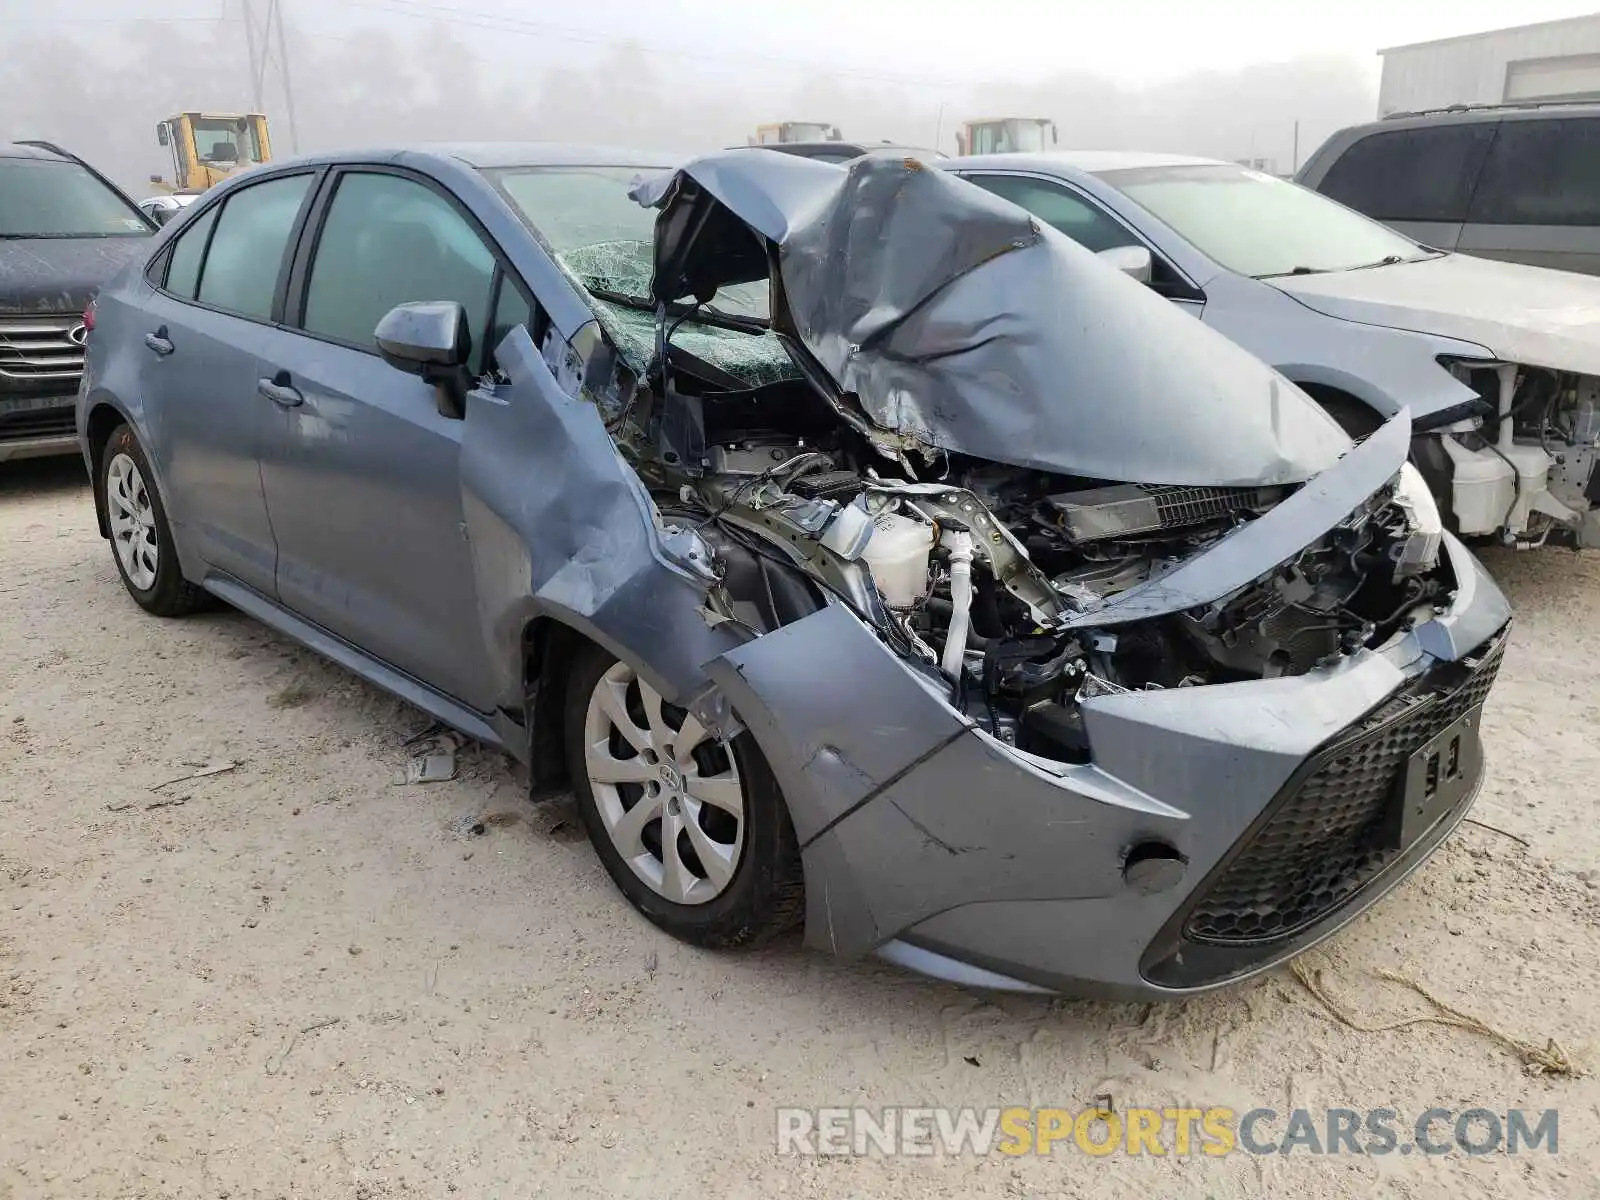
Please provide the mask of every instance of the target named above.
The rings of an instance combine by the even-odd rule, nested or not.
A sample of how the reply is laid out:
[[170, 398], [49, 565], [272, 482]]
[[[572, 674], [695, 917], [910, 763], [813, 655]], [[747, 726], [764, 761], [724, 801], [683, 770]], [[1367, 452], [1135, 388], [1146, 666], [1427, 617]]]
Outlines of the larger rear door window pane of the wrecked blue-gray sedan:
[[202, 304], [256, 320], [272, 318], [283, 251], [310, 182], [309, 174], [291, 174], [253, 184], [227, 198], [200, 272], [197, 299]]

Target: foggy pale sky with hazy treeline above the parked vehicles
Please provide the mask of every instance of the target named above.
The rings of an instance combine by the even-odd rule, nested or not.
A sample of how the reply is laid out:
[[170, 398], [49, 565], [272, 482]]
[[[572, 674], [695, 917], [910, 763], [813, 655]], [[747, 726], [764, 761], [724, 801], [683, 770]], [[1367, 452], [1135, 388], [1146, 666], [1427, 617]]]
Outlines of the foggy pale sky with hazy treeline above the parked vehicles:
[[[134, 195], [171, 178], [155, 123], [254, 107], [246, 0], [0, 0], [0, 139], [46, 138]], [[262, 26], [274, 0], [248, 0]], [[955, 149], [973, 117], [1056, 120], [1062, 147], [1294, 166], [1376, 117], [1376, 51], [1573, 16], [1558, 0], [277, 0], [274, 154], [584, 141], [683, 154], [763, 122]], [[285, 91], [283, 61], [291, 91]], [[290, 106], [293, 99], [293, 131]]]

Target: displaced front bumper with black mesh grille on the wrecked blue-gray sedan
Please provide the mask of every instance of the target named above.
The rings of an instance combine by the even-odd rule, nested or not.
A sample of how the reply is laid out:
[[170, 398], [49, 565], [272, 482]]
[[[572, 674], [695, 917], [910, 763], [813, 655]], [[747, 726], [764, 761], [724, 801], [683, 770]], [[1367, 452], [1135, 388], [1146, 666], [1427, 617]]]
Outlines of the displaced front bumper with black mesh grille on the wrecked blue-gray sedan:
[[[984, 987], [1163, 998], [1328, 936], [1482, 779], [1474, 731], [1453, 805], [1403, 843], [1378, 835], [1395, 771], [1478, 710], [1504, 643], [1504, 597], [1445, 547], [1448, 613], [1307, 675], [1086, 701], [1085, 766], [995, 741], [840, 606], [712, 662], [789, 802], [806, 941]], [[1155, 888], [1128, 870], [1147, 846], [1181, 859]]]

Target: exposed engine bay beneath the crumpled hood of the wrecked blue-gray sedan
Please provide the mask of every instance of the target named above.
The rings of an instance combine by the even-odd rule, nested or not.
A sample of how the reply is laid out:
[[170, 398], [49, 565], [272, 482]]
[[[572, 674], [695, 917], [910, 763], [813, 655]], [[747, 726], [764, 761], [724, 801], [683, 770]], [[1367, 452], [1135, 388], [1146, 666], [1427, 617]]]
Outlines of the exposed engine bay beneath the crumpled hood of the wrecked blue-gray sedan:
[[691, 355], [630, 387], [613, 437], [715, 552], [714, 619], [752, 632], [848, 605], [995, 738], [1086, 762], [1090, 696], [1299, 675], [1378, 646], [1453, 592], [1406, 467], [1288, 562], [1216, 602], [1099, 627], [1299, 483], [1163, 486], [885, 453], [808, 382], [731, 387]]

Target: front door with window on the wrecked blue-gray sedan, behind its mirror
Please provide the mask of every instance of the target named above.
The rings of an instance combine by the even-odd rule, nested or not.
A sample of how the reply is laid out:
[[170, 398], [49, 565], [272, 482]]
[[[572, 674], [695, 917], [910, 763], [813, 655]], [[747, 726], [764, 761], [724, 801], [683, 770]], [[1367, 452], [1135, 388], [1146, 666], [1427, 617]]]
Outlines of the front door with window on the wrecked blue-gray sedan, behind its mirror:
[[464, 422], [378, 357], [373, 330], [397, 304], [459, 301], [482, 371], [499, 280], [496, 250], [442, 187], [346, 168], [294, 266], [298, 328], [262, 352], [280, 397], [261, 478], [282, 602], [480, 712], [493, 698], [461, 506]]

